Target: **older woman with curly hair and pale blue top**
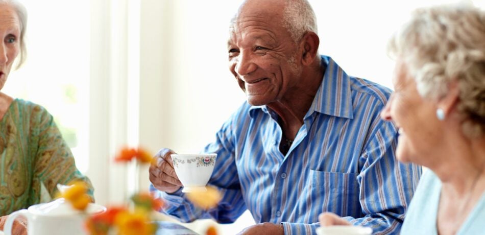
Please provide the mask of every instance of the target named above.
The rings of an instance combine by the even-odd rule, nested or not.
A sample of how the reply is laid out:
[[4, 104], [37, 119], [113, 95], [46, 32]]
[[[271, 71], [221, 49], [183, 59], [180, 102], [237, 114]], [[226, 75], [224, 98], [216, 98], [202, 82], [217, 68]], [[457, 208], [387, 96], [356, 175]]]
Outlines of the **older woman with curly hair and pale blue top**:
[[485, 12], [418, 9], [389, 49], [395, 92], [381, 116], [399, 127], [398, 159], [429, 168], [401, 234], [484, 234]]

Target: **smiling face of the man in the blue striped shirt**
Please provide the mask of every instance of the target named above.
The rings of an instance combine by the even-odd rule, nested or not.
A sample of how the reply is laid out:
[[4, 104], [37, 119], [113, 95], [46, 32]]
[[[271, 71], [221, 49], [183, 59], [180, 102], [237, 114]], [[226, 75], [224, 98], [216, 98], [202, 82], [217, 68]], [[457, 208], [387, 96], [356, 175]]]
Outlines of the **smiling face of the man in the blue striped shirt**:
[[281, 100], [301, 74], [298, 45], [281, 26], [282, 10], [269, 9], [283, 7], [248, 2], [229, 28], [229, 69], [251, 105]]

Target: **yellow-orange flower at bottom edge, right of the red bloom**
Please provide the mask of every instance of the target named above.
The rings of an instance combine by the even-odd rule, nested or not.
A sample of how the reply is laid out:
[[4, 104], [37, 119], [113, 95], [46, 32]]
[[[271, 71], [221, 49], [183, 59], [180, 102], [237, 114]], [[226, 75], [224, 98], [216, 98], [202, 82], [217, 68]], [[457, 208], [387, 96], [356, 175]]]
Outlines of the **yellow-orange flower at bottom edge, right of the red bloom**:
[[156, 224], [150, 223], [148, 213], [144, 212], [120, 212], [115, 217], [115, 225], [118, 234], [123, 235], [150, 235], [157, 230]]

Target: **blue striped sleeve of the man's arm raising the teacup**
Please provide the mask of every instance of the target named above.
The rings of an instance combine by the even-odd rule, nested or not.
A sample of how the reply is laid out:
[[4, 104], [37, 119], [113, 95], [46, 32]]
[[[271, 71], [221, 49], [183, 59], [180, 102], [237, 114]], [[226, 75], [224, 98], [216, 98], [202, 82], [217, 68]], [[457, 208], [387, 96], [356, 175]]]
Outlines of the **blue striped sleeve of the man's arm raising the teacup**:
[[[232, 119], [230, 119], [232, 120]], [[216, 134], [215, 142], [207, 145], [203, 152], [216, 153], [214, 171], [208, 185], [215, 187], [222, 195], [217, 207], [203, 210], [185, 197], [181, 190], [173, 194], [158, 191], [150, 185], [155, 197], [165, 201], [160, 212], [179, 218], [182, 222], [197, 219], [214, 219], [219, 223], [232, 223], [246, 210], [246, 204], [240, 191], [239, 177], [235, 164], [235, 141], [232, 133], [232, 122], [226, 122]]]

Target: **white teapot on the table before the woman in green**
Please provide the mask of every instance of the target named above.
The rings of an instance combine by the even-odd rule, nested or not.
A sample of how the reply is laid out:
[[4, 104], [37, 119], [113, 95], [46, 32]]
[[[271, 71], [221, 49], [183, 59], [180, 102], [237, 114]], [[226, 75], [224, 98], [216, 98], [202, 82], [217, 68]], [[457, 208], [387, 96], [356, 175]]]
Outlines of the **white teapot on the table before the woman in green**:
[[17, 216], [27, 218], [27, 234], [29, 235], [81, 235], [86, 234], [84, 222], [86, 217], [106, 211], [106, 207], [89, 203], [85, 212], [80, 212], [60, 198], [48, 203], [29, 206], [28, 209], [17, 210], [10, 214], [5, 223], [4, 233], [12, 233], [12, 225]]

